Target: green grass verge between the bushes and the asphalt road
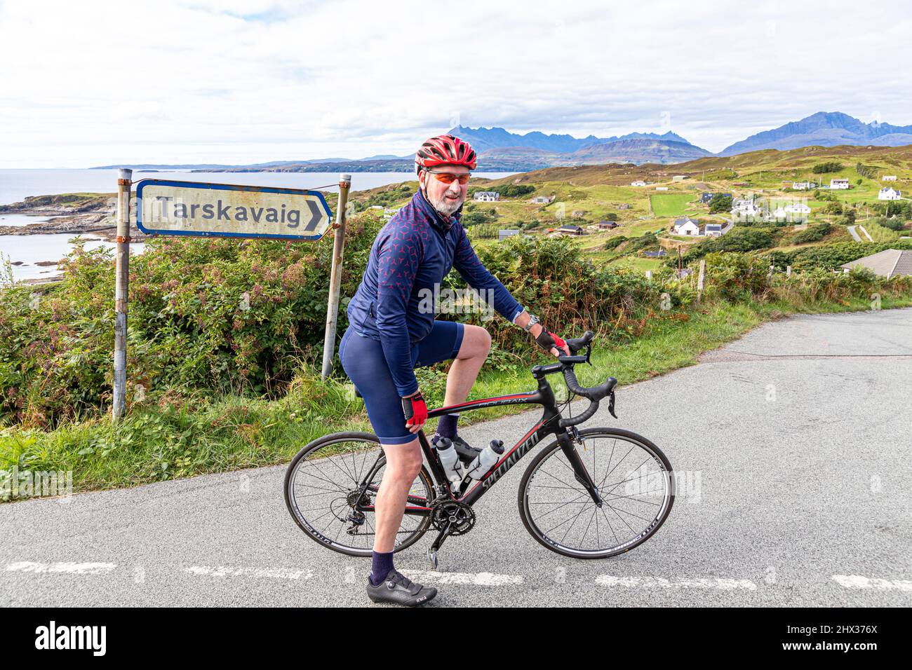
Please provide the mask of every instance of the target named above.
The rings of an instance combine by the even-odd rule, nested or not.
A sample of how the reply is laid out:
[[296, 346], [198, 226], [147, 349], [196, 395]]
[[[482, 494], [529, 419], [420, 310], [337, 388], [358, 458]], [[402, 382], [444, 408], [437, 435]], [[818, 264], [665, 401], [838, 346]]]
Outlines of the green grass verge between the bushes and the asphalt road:
[[[884, 307], [912, 305], [885, 299]], [[711, 304], [689, 313], [653, 314], [634, 339], [597, 340], [593, 366], [580, 366], [580, 381], [591, 386], [616, 376], [621, 385], [693, 365], [700, 353], [737, 338], [765, 320], [796, 311], [867, 309], [850, 304]], [[570, 335], [570, 334], [566, 334]], [[472, 398], [534, 389], [529, 368], [545, 356], [529, 350], [504, 369], [482, 370]], [[442, 376], [442, 372], [435, 373]], [[555, 381], [559, 396], [565, 388]], [[423, 383], [423, 382], [422, 382]], [[462, 423], [522, 411], [492, 407], [466, 413]], [[432, 427], [430, 427], [432, 428]], [[342, 381], [320, 382], [302, 371], [288, 395], [269, 401], [223, 397], [213, 402], [184, 400], [164, 407], [136, 407], [118, 424], [82, 421], [52, 431], [0, 429], [0, 469], [72, 470], [74, 490], [105, 490], [207, 472], [285, 463], [306, 443], [341, 430], [370, 431], [362, 402]]]

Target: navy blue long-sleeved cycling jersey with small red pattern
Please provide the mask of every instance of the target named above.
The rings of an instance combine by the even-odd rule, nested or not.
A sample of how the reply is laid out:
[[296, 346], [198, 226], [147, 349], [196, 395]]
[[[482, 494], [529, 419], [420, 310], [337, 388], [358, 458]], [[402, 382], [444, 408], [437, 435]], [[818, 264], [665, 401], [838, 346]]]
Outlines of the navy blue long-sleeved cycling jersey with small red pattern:
[[[470, 286], [492, 290], [493, 307], [504, 318], [513, 321], [523, 311], [475, 255], [459, 212], [444, 218], [418, 191], [378, 232], [347, 308], [349, 324], [383, 345], [400, 397], [418, 390], [412, 346], [430, 333], [440, 285], [453, 267]], [[433, 309], [420, 309], [422, 299], [427, 306], [428, 296]]]

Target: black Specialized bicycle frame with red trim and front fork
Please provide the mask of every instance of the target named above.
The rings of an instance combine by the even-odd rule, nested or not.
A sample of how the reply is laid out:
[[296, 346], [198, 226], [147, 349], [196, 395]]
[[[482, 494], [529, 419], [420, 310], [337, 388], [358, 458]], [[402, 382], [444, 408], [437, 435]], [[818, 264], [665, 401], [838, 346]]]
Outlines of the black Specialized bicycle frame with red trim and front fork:
[[[446, 497], [449, 495], [454, 500], [459, 500], [470, 506], [474, 505], [485, 492], [492, 488], [498, 479], [501, 479], [503, 475], [523, 458], [523, 456], [541, 442], [544, 437], [555, 435], [561, 448], [564, 450], [567, 460], [575, 471], [576, 479], [586, 487], [586, 490], [592, 496], [596, 504], [601, 503], [601, 497], [598, 494], [596, 485], [592, 481], [579, 454], [576, 452], [568, 429], [560, 428], [559, 426], [562, 416], [560, 410], [557, 408], [554, 389], [546, 378], [551, 372], [554, 372], [553, 366], [547, 366], [547, 368], [544, 366], [535, 366], [533, 368], [533, 376], [538, 380], [538, 389], [535, 391], [515, 393], [510, 396], [472, 400], [459, 405], [439, 407], [428, 412], [428, 417], [433, 418], [442, 417], [444, 415], [452, 414], [453, 412], [461, 413], [472, 411], [473, 409], [482, 409], [484, 407], [500, 407], [505, 405], [541, 405], [544, 407], [544, 413], [541, 419], [538, 420], [534, 427], [531, 428], [523, 438], [520, 438], [520, 440], [513, 445], [513, 448], [503, 454], [503, 457], [493, 465], [492, 469], [490, 469], [480, 481], [466, 479], [463, 481], [461, 490], [459, 491], [451, 490], [450, 481], [447, 479], [446, 473], [440, 465], [440, 459], [437, 458], [435, 449], [430, 446], [430, 442], [425, 436], [424, 431], [420, 430], [418, 432], [419, 443], [421, 445], [421, 450], [424, 453], [424, 457], [430, 465], [436, 488], [435, 492], [438, 496]], [[370, 474], [368, 474], [368, 478], [369, 477]], [[429, 502], [429, 500], [422, 496], [409, 495], [406, 500], [405, 513], [414, 516], [428, 516], [431, 511]], [[362, 511], [373, 511], [374, 509], [373, 505], [358, 506], [358, 510]]]

